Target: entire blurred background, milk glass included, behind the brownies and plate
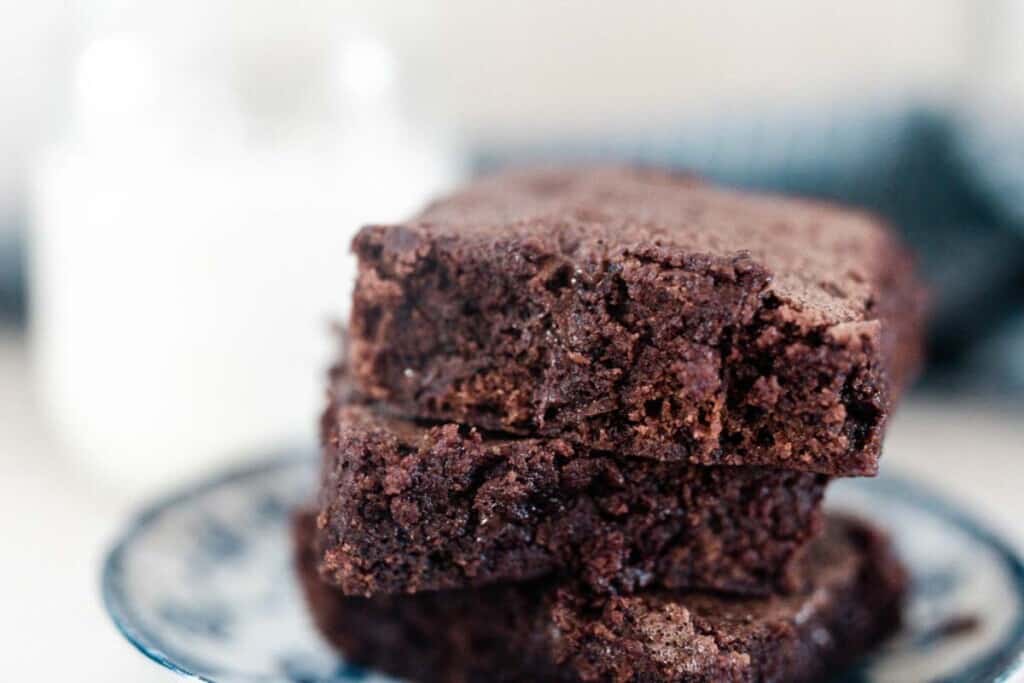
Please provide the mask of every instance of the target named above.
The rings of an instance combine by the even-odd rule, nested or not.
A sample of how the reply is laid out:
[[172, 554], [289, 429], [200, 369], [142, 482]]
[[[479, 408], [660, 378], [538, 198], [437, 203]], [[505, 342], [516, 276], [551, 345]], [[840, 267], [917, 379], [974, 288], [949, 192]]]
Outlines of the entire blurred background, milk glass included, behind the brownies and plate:
[[1014, 0], [0, 0], [4, 678], [166, 680], [104, 545], [313, 442], [353, 231], [510, 163], [888, 217], [934, 315], [884, 469], [1024, 547], [1022, 36]]

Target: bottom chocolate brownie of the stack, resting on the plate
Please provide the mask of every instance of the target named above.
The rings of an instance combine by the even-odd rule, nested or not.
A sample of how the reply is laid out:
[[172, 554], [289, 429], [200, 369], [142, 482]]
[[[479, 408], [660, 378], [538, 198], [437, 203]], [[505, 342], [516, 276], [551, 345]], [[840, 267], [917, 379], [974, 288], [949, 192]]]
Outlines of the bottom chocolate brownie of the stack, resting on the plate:
[[811, 681], [899, 623], [905, 574], [888, 541], [829, 520], [797, 595], [594, 596], [558, 581], [347, 597], [325, 584], [312, 516], [297, 518], [299, 575], [324, 636], [350, 660], [413, 681]]

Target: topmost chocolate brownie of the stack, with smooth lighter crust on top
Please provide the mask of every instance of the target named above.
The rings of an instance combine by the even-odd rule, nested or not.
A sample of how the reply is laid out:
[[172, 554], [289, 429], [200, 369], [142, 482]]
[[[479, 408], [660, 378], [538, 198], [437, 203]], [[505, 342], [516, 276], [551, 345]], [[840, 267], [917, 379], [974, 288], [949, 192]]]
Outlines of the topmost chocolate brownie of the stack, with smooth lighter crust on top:
[[597, 167], [365, 227], [348, 366], [408, 417], [624, 456], [873, 474], [922, 293], [878, 220]]

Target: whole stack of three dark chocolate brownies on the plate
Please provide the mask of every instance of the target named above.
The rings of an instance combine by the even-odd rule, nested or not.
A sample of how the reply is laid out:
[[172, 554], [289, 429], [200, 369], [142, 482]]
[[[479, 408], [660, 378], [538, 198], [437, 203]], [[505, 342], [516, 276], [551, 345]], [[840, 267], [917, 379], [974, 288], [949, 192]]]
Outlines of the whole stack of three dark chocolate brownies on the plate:
[[690, 176], [478, 181], [364, 228], [300, 573], [418, 681], [809, 680], [897, 624], [878, 470], [920, 356], [869, 216]]

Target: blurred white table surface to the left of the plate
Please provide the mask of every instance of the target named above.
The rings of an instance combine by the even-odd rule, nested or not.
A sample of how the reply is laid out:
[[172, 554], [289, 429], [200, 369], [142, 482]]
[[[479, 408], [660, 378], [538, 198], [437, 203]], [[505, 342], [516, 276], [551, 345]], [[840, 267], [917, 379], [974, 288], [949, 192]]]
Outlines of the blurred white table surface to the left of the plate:
[[106, 618], [99, 565], [128, 500], [61, 457], [24, 338], [0, 330], [0, 642], [5, 681], [173, 681]]

